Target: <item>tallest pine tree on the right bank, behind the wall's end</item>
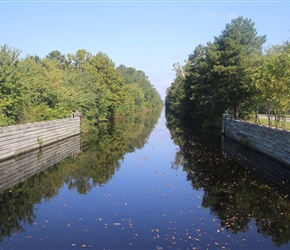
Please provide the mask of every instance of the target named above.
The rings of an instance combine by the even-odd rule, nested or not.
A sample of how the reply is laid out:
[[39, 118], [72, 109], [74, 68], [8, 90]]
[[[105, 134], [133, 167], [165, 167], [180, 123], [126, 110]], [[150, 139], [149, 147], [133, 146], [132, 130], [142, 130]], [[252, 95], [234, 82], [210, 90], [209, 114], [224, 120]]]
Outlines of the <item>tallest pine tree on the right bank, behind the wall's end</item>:
[[216, 62], [211, 73], [217, 77], [218, 86], [215, 99], [222, 98], [225, 105], [233, 109], [236, 119], [240, 106], [252, 93], [245, 77], [248, 58], [261, 54], [266, 42], [266, 36], [258, 36], [254, 25], [251, 19], [243, 17], [232, 20], [222, 34], [215, 37], [216, 47], [212, 51]]

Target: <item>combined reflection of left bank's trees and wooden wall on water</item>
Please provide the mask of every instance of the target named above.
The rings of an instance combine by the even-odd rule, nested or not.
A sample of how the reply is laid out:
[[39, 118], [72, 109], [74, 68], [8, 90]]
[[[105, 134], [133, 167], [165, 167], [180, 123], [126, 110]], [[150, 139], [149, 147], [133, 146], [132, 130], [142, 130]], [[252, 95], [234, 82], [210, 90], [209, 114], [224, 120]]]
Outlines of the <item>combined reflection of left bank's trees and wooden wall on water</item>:
[[24, 232], [23, 224], [32, 225], [34, 205], [56, 196], [63, 185], [80, 194], [105, 185], [120, 168], [124, 155], [145, 145], [160, 112], [99, 124], [81, 140], [72, 137], [0, 162], [0, 242]]

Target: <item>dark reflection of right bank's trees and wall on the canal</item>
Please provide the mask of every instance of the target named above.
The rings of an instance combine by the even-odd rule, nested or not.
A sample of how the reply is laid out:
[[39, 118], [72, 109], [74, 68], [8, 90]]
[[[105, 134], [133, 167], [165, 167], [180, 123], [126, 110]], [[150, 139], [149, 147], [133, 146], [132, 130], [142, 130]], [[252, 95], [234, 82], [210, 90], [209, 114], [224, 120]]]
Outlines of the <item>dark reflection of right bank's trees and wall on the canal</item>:
[[180, 124], [167, 116], [167, 127], [180, 150], [182, 166], [193, 189], [203, 190], [202, 205], [233, 234], [249, 230], [271, 237], [279, 247], [290, 241], [289, 166], [226, 139], [220, 131]]

